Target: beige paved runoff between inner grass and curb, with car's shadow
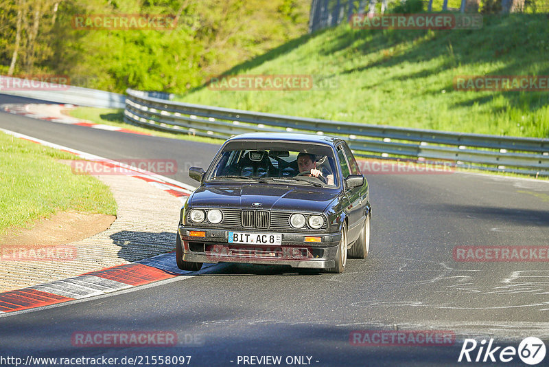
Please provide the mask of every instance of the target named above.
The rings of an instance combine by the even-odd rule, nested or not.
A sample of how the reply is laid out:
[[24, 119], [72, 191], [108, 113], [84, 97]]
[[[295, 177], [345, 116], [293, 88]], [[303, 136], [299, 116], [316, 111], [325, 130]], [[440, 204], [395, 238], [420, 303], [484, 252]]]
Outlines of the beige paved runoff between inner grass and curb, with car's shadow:
[[[78, 276], [171, 252], [181, 199], [136, 177], [97, 176], [113, 192], [117, 219], [104, 232], [54, 247], [69, 256], [0, 261], [0, 292]], [[23, 251], [25, 249], [22, 249]]]

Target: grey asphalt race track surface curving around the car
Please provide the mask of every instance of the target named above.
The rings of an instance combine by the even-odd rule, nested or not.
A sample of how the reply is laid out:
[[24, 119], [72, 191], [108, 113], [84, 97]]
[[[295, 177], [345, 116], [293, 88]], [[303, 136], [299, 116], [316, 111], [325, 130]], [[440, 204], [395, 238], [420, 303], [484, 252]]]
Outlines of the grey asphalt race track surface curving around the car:
[[[0, 95], [0, 104], [16, 102], [30, 100]], [[170, 178], [193, 185], [188, 167], [206, 168], [219, 148], [8, 113], [0, 113], [0, 127], [110, 159], [176, 159], [179, 170]], [[371, 253], [349, 260], [343, 274], [220, 264], [192, 278], [0, 315], [0, 356], [183, 355], [191, 356], [189, 366], [257, 365], [244, 356], [281, 356], [281, 366], [493, 366], [482, 363], [484, 355], [481, 362], [458, 363], [463, 340], [493, 338], [494, 346], [517, 348], [532, 336], [549, 348], [547, 261], [460, 262], [453, 255], [456, 246], [549, 247], [549, 183], [464, 173], [366, 178]], [[353, 331], [372, 330], [443, 331], [456, 341], [351, 342]], [[178, 343], [73, 346], [73, 334], [87, 331], [167, 331], [178, 335]], [[546, 356], [539, 366], [548, 361]], [[518, 356], [498, 364], [527, 366]]]

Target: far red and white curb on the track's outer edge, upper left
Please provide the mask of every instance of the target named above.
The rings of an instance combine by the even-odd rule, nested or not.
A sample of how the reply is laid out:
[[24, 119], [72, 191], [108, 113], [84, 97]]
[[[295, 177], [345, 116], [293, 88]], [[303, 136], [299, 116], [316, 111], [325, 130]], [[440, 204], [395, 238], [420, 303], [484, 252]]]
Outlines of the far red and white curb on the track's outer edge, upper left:
[[93, 129], [118, 131], [120, 133], [151, 135], [148, 133], [141, 133], [140, 131], [124, 129], [117, 126], [95, 124], [95, 122], [73, 118], [61, 112], [62, 109], [73, 109], [73, 108], [75, 108], [73, 104], [8, 103], [8, 104], [0, 105], [0, 110], [3, 110], [8, 113], [12, 113], [14, 115], [26, 116], [27, 118], [36, 118], [38, 120], [59, 122], [60, 124], [87, 126]]

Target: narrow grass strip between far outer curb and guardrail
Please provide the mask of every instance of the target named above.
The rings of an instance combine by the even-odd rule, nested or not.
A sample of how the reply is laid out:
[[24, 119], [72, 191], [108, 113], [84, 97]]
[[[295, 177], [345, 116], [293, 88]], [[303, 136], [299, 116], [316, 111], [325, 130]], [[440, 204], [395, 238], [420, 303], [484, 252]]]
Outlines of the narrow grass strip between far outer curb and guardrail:
[[123, 129], [131, 129], [140, 133], [148, 133], [153, 136], [170, 137], [172, 139], [193, 140], [195, 142], [204, 142], [211, 144], [222, 144], [224, 140], [212, 139], [209, 137], [192, 136], [184, 133], [169, 133], [162, 130], [152, 129], [149, 127], [128, 124], [124, 122], [123, 109], [100, 109], [95, 107], [77, 107], [69, 110], [69, 115], [82, 120], [89, 120], [97, 124], [105, 124], [109, 126], [117, 126]]

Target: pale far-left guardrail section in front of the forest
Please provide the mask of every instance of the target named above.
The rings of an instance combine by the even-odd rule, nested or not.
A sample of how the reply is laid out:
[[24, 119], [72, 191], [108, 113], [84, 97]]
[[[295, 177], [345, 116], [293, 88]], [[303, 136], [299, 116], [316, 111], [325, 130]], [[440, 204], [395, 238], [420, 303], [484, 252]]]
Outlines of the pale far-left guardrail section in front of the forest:
[[79, 106], [123, 109], [126, 96], [97, 89], [0, 76], [0, 93]]

